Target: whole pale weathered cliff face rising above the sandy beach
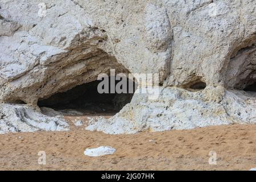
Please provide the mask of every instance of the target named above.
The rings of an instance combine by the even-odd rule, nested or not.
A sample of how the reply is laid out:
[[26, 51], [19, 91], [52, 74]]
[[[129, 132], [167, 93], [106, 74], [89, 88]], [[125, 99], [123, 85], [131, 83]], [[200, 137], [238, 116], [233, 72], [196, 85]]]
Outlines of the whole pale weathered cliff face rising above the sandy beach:
[[27, 104], [24, 112], [38, 110], [38, 101], [114, 68], [159, 73], [159, 98], [135, 94], [113, 118], [92, 121], [90, 130], [117, 134], [256, 122], [256, 1], [40, 3], [0, 2], [0, 101], [14, 104], [1, 105], [10, 118], [20, 101]]

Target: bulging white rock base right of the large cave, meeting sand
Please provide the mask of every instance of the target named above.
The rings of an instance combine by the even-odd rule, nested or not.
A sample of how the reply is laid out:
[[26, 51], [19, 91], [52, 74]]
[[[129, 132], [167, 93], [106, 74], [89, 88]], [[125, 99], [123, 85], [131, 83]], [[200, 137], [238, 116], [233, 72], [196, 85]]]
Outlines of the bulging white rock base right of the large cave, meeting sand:
[[108, 134], [133, 134], [138, 131], [194, 129], [196, 127], [255, 123], [255, 97], [226, 90], [221, 102], [205, 101], [206, 93], [178, 88], [158, 88], [158, 100], [134, 94], [133, 100], [113, 118], [91, 119], [87, 130]]

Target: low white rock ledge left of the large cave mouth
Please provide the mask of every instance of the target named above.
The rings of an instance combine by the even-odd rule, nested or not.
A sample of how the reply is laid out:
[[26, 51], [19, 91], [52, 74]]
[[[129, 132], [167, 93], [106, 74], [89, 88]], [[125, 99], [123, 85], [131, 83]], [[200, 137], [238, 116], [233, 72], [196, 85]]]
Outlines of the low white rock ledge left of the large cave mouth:
[[63, 117], [47, 117], [28, 106], [0, 104], [0, 134], [9, 132], [67, 131]]

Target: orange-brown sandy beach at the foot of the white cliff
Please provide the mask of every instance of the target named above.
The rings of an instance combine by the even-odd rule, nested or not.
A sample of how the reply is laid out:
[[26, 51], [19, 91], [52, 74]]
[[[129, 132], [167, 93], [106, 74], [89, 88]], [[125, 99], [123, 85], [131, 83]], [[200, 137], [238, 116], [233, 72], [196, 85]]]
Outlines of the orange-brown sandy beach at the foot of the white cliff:
[[[72, 123], [71, 123], [72, 125]], [[71, 131], [0, 135], [1, 170], [249, 170], [256, 167], [256, 125], [211, 126], [135, 135], [108, 135], [72, 125]], [[86, 148], [112, 146], [89, 157]], [[46, 152], [46, 165], [38, 152]], [[210, 165], [209, 152], [217, 154]]]

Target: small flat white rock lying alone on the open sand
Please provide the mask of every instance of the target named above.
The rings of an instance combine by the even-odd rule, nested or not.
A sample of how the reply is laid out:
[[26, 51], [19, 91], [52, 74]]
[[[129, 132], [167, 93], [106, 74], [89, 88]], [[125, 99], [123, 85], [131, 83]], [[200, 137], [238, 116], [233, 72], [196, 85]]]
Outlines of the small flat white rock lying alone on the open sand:
[[115, 148], [110, 146], [101, 146], [98, 148], [86, 148], [84, 155], [97, 157], [101, 155], [110, 155], [115, 152]]

